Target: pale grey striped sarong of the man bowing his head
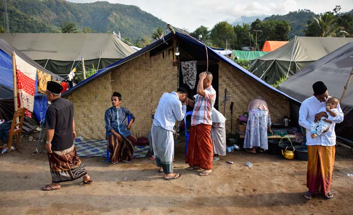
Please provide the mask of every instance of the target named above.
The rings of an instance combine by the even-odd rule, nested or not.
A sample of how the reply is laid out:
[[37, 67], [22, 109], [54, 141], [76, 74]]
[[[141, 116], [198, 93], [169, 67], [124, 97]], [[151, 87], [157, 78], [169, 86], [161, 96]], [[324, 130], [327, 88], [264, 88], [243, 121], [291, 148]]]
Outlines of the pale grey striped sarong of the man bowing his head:
[[173, 172], [174, 138], [173, 132], [160, 126], [152, 125], [152, 145], [157, 167], [163, 167], [163, 172]]

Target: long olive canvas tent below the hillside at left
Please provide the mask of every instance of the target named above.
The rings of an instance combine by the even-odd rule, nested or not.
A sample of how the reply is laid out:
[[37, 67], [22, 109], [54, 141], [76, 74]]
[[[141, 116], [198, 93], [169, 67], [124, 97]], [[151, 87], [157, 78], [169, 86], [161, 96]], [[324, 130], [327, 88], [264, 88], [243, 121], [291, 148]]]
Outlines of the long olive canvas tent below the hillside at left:
[[81, 57], [85, 66], [97, 69], [136, 51], [108, 33], [5, 33], [0, 38], [55, 74], [69, 74]]

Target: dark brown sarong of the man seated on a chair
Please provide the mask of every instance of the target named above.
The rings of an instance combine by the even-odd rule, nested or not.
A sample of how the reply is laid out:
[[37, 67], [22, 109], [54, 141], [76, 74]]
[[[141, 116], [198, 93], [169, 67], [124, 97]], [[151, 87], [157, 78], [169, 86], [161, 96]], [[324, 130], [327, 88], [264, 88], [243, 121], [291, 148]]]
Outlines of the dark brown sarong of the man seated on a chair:
[[135, 136], [130, 135], [123, 141], [117, 140], [113, 134], [108, 136], [109, 162], [115, 164], [119, 161], [131, 161], [134, 154], [134, 146], [137, 142]]

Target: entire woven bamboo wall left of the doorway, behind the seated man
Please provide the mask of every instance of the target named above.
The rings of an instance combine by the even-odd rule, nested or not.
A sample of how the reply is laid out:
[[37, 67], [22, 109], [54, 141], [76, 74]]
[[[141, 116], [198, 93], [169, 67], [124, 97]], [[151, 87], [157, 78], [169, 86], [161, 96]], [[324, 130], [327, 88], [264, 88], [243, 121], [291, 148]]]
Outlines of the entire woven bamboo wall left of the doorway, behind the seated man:
[[172, 66], [171, 60], [167, 50], [152, 57], [146, 53], [73, 93], [69, 100], [75, 107], [77, 134], [92, 139], [105, 137], [104, 113], [116, 91], [122, 94], [121, 106], [135, 116], [131, 132], [136, 137], [146, 136], [161, 95], [177, 90], [178, 67]]

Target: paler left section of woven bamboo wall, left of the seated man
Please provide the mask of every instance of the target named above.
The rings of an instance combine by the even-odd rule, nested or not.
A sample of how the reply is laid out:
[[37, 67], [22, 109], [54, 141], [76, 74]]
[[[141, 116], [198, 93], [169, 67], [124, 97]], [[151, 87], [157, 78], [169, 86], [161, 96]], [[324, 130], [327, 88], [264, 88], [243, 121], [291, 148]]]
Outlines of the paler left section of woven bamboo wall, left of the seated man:
[[104, 138], [104, 113], [111, 106], [110, 73], [79, 88], [68, 99], [75, 110], [76, 134], [85, 138]]

